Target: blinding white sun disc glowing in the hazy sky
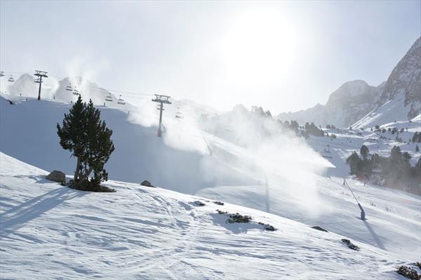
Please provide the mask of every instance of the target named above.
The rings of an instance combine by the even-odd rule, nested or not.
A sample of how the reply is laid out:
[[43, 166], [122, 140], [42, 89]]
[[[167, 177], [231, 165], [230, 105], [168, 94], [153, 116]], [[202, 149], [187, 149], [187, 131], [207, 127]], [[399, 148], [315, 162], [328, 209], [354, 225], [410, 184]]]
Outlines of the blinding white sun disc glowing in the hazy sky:
[[225, 75], [249, 86], [272, 83], [292, 67], [297, 39], [292, 22], [279, 11], [246, 11], [221, 43]]

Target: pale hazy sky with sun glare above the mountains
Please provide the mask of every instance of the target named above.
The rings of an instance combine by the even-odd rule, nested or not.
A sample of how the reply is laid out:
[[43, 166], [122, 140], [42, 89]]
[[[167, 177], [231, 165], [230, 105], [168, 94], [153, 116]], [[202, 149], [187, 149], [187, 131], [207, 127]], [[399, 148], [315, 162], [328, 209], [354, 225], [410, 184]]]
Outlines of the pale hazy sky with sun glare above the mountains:
[[346, 81], [377, 86], [420, 36], [421, 1], [0, 0], [1, 71], [222, 110], [294, 112]]

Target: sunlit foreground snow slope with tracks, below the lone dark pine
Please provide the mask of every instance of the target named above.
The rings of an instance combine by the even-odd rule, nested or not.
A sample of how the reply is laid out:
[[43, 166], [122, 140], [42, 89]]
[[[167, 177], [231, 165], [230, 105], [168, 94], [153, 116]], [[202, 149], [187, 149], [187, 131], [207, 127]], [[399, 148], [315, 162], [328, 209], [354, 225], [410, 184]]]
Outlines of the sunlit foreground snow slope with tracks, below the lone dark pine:
[[[116, 181], [116, 193], [80, 192], [3, 153], [0, 165], [4, 279], [403, 279], [408, 263], [234, 204]], [[218, 208], [253, 222], [227, 224]]]

